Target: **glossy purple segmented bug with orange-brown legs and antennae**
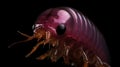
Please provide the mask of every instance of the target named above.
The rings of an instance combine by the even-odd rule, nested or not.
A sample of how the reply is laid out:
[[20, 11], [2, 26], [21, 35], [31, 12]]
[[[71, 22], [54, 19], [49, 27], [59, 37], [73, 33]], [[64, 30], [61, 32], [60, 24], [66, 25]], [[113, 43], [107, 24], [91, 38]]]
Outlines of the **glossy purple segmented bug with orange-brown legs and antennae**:
[[50, 8], [38, 17], [33, 28], [32, 36], [18, 31], [27, 39], [9, 47], [36, 38], [38, 43], [25, 57], [33, 54], [40, 45], [47, 44], [52, 46], [51, 49], [37, 60], [49, 57], [57, 62], [62, 57], [65, 64], [76, 67], [110, 67], [102, 34], [81, 12], [70, 7]]

